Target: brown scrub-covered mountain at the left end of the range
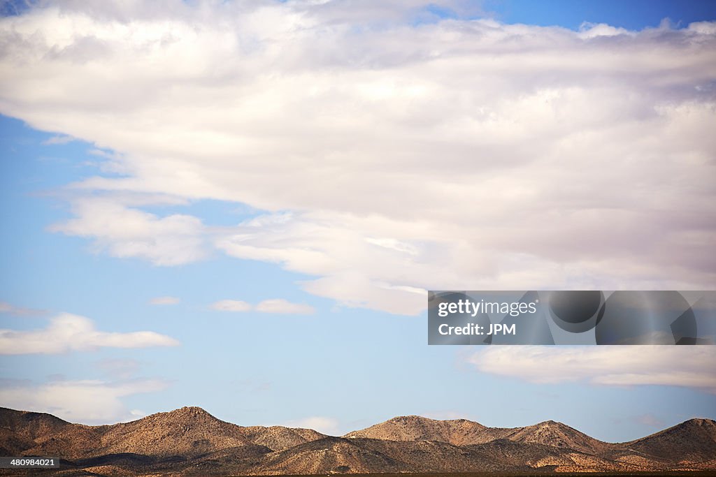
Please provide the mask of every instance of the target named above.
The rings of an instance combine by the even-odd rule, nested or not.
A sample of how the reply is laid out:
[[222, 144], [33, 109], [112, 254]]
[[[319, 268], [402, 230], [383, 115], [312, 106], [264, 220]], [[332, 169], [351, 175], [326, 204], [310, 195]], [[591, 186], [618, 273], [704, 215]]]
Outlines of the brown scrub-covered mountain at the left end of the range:
[[70, 424], [49, 414], [0, 408], [0, 426], [0, 448], [12, 451], [4, 455], [69, 459], [123, 453], [195, 457], [240, 446], [265, 453], [325, 437], [310, 429], [236, 426], [193, 407], [112, 426]]

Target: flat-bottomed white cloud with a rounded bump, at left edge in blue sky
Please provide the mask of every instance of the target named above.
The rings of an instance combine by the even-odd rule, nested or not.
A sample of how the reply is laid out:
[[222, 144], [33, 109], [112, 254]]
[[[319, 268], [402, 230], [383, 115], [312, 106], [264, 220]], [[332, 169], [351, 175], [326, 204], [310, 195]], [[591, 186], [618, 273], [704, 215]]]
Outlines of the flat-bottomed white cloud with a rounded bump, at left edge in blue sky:
[[110, 333], [99, 331], [83, 316], [62, 313], [42, 330], [0, 330], [0, 355], [54, 354], [97, 348], [176, 346], [179, 342], [153, 331]]

